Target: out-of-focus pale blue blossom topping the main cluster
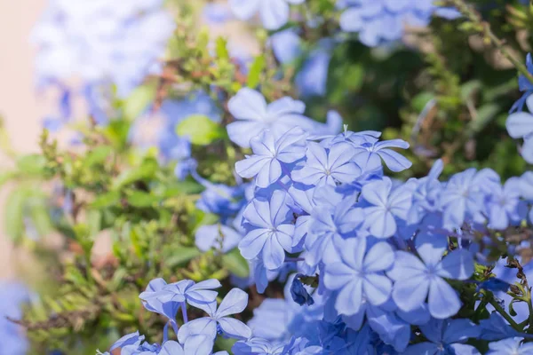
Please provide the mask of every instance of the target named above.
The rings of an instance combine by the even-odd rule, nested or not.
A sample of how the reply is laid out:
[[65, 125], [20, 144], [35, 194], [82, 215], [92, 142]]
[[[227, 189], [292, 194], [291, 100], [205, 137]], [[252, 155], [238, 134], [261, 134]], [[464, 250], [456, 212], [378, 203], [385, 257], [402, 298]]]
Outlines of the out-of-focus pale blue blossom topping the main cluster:
[[335, 134], [340, 130], [339, 122], [324, 124], [304, 116], [306, 106], [302, 101], [284, 97], [267, 105], [263, 95], [248, 88], [238, 91], [227, 107], [235, 117], [235, 122], [227, 125], [227, 134], [236, 145], [245, 148], [263, 130], [271, 130], [274, 138], [297, 126], [309, 134]]

